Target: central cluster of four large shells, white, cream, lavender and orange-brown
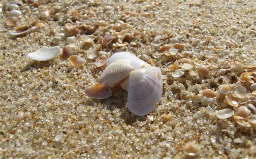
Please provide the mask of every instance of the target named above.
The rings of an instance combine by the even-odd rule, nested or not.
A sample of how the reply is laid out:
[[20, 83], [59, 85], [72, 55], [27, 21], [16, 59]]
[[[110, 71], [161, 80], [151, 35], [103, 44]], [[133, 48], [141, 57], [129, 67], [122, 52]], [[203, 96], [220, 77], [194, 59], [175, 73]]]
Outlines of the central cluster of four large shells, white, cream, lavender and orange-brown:
[[97, 99], [108, 98], [112, 96], [110, 88], [120, 85], [128, 92], [128, 108], [132, 113], [146, 115], [153, 111], [163, 92], [160, 69], [129, 52], [113, 54], [109, 63], [100, 76], [100, 84], [86, 88], [86, 95]]

